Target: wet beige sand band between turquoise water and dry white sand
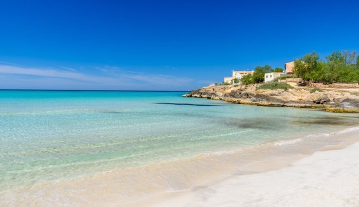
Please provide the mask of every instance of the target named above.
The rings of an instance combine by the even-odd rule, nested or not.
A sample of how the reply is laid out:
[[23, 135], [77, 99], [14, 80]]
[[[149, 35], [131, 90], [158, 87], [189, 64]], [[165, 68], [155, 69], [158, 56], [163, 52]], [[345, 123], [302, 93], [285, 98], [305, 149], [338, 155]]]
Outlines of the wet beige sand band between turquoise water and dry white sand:
[[[25, 191], [19, 189], [11, 193], [3, 192], [0, 197], [9, 204], [21, 201], [19, 206], [61, 206], [65, 203], [156, 206], [237, 176], [284, 168], [294, 161], [310, 157], [318, 150], [337, 149], [340, 146], [344, 148], [351, 142], [359, 141], [359, 138], [351, 139], [346, 135], [355, 135], [358, 130], [359, 126], [346, 126], [331, 134], [278, 140], [243, 150], [201, 154], [194, 158], [153, 163], [144, 167], [128, 168], [125, 171], [113, 170], [76, 179], [58, 180], [55, 183], [47, 182]], [[344, 135], [347, 139], [343, 138]], [[33, 199], [21, 200], [24, 193]], [[43, 193], [48, 198], [45, 203], [42, 201]], [[103, 203], [101, 200], [106, 202]]]

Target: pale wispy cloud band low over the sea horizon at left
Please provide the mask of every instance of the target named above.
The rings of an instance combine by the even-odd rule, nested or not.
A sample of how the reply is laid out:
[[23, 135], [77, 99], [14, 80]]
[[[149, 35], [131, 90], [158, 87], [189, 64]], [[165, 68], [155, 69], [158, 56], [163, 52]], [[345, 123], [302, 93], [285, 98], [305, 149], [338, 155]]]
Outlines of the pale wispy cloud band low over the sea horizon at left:
[[[129, 71], [116, 66], [105, 66], [97, 68], [96, 74], [78, 72], [73, 68], [61, 66], [56, 69], [53, 67], [46, 68], [27, 68], [10, 65], [0, 65], [0, 74], [10, 74], [11, 78], [7, 83], [15, 79], [22, 83], [39, 84], [69, 84], [79, 88], [80, 86], [93, 86], [111, 89], [133, 89], [133, 90], [160, 90], [163, 88], [181, 88], [193, 82], [191, 78], [174, 77], [163, 74], [146, 74], [142, 72]], [[25, 80], [25, 81], [24, 81]], [[0, 87], [6, 83], [2, 82]], [[6, 85], [5, 85], [6, 86]], [[58, 86], [60, 87], [60, 86]]]

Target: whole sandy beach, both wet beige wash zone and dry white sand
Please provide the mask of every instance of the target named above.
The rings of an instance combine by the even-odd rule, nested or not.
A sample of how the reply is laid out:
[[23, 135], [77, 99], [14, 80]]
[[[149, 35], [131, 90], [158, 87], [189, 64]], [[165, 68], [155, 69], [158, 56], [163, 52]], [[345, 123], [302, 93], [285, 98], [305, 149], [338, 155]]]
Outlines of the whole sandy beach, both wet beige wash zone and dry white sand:
[[[339, 172], [336, 182], [345, 185], [338, 193], [350, 197], [345, 197], [347, 206], [355, 206], [359, 188], [352, 184], [359, 186], [358, 132], [359, 127], [352, 126], [241, 150], [48, 181], [3, 191], [0, 198], [4, 206], [313, 206], [297, 205], [301, 194], [294, 190], [302, 195], [308, 188], [330, 191], [316, 181], [326, 184]], [[320, 197], [326, 196], [309, 194], [317, 196], [313, 199], [319, 204], [324, 199]]]

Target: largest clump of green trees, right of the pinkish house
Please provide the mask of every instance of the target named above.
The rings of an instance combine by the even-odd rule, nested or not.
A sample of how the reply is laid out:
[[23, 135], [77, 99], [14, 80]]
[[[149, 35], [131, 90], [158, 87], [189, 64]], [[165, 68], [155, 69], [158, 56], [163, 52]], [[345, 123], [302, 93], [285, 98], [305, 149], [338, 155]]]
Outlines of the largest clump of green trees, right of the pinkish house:
[[324, 61], [319, 59], [318, 53], [312, 52], [294, 61], [293, 72], [304, 81], [359, 82], [359, 56], [355, 59], [355, 54], [355, 51], [335, 51]]

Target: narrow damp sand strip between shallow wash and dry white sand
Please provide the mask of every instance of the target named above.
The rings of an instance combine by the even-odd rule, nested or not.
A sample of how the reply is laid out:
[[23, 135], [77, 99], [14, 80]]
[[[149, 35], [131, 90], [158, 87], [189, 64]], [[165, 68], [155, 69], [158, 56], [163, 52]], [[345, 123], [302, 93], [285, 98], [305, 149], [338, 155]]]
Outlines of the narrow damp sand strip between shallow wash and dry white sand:
[[[355, 138], [355, 135], [358, 133], [358, 130], [359, 130], [358, 127], [350, 127], [347, 129], [355, 129], [355, 130], [344, 132], [344, 133], [339, 132], [338, 134], [335, 134], [334, 135], [335, 137], [333, 137], [333, 138], [339, 139], [340, 143], [337, 143], [335, 145], [323, 146], [321, 149], [313, 151], [312, 153], [298, 154], [298, 155], [294, 155], [294, 156], [276, 157], [276, 158], [272, 158], [269, 160], [259, 160], [259, 161], [251, 162], [248, 164], [238, 166], [239, 171], [237, 174], [232, 174], [225, 178], [222, 178], [219, 180], [214, 180], [213, 182], [209, 182], [207, 184], [195, 186], [193, 188], [186, 189], [183, 191], [164, 192], [164, 193], [160, 193], [160, 194], [154, 195], [149, 198], [141, 199], [136, 202], [122, 204], [122, 205], [118, 205], [118, 206], [121, 206], [121, 207], [134, 207], [134, 206], [165, 207], [165, 206], [170, 206], [174, 203], [176, 203], [177, 205], [173, 205], [173, 206], [178, 206], [178, 207], [186, 206], [186, 204], [187, 204], [187, 206], [188, 205], [191, 206], [191, 204], [188, 204], [188, 203], [185, 204], [185, 201], [188, 201], [190, 199], [190, 197], [193, 197], [195, 194], [203, 193], [203, 191], [205, 189], [208, 189], [211, 186], [218, 186], [221, 183], [226, 183], [226, 182], [228, 182], [228, 180], [232, 180], [235, 178], [241, 178], [242, 176], [251, 176], [251, 175], [256, 175], [256, 174], [261, 174], [261, 173], [266, 173], [266, 172], [271, 172], [271, 171], [287, 168], [287, 167], [292, 166], [292, 164], [295, 162], [298, 162], [305, 158], [312, 157], [314, 154], [320, 153], [320, 152], [342, 150], [342, 149], [345, 149], [348, 146], [351, 146], [354, 144], [358, 144], [358, 149], [359, 149], [359, 137]], [[343, 138], [342, 135], [344, 135], [345, 138]], [[358, 163], [359, 163], [359, 160], [358, 160]], [[258, 185], [260, 185], [260, 184], [258, 184]], [[197, 195], [197, 196], [199, 196], [199, 195]], [[209, 204], [204, 204], [204, 205], [208, 206]], [[202, 206], [202, 203], [199, 206]]]

